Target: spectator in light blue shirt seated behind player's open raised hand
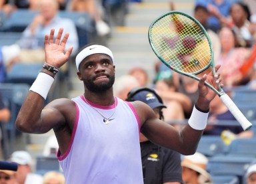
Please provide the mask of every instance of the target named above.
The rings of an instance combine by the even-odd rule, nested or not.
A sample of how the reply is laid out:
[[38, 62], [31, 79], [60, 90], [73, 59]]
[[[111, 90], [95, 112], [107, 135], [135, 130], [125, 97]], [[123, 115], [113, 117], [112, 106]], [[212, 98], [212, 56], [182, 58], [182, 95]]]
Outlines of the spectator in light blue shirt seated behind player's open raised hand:
[[39, 14], [36, 15], [32, 23], [25, 29], [19, 41], [21, 51], [18, 56], [9, 62], [9, 68], [15, 62], [44, 62], [45, 51], [43, 50], [43, 37], [49, 33], [51, 27], [64, 27], [70, 34], [67, 45], [73, 46], [73, 53], [78, 50], [78, 35], [75, 24], [71, 19], [64, 19], [58, 15], [59, 5], [57, 0], [40, 1]]

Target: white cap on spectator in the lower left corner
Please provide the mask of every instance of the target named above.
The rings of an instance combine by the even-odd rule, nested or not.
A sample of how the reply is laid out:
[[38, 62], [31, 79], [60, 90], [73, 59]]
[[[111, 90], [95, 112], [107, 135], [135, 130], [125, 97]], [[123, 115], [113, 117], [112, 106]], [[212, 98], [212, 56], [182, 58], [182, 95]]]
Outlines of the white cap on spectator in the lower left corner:
[[32, 157], [27, 151], [14, 151], [9, 161], [19, 165], [32, 165]]

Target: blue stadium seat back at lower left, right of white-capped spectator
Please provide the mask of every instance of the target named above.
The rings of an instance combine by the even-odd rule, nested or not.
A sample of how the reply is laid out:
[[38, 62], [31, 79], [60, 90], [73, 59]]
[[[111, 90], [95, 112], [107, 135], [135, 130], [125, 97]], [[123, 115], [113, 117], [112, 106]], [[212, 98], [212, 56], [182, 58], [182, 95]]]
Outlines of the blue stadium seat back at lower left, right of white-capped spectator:
[[37, 156], [36, 157], [36, 169], [37, 174], [44, 175], [47, 171], [61, 171], [59, 161], [54, 156]]

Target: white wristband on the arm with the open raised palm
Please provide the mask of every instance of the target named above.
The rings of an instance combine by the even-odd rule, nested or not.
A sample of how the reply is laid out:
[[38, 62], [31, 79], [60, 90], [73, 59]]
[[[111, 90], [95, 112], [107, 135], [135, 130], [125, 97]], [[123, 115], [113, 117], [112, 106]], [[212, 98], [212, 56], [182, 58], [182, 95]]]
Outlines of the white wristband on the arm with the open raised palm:
[[39, 72], [35, 82], [33, 82], [31, 88], [29, 90], [40, 94], [43, 98], [47, 98], [47, 94], [51, 88], [51, 84], [53, 84], [54, 78], [49, 74], [45, 74], [44, 72]]

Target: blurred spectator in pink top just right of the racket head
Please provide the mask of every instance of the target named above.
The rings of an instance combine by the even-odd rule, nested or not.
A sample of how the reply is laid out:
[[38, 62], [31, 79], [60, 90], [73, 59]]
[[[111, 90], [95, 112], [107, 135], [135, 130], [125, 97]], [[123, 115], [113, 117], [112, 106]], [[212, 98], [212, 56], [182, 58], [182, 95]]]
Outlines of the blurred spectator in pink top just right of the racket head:
[[221, 54], [217, 60], [217, 64], [221, 64], [221, 77], [227, 88], [246, 84], [248, 78], [243, 78], [239, 68], [245, 60], [249, 58], [251, 50], [249, 48], [237, 48], [234, 32], [229, 27], [221, 28], [219, 31], [219, 39], [221, 41]]

